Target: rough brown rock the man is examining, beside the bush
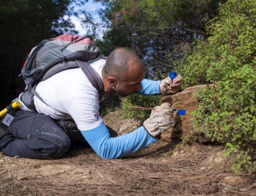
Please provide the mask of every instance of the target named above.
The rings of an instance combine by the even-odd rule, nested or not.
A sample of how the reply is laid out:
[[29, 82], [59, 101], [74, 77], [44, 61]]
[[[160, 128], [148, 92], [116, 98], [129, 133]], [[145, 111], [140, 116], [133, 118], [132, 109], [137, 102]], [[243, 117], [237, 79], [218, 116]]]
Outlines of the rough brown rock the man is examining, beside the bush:
[[205, 85], [197, 85], [185, 88], [175, 95], [164, 96], [160, 100], [160, 104], [168, 102], [172, 104], [172, 108], [186, 110], [185, 116], [177, 115], [177, 112], [174, 112], [175, 125], [162, 133], [162, 139], [167, 141], [181, 141], [186, 137], [195, 136], [198, 138], [199, 142], [209, 141], [206, 136], [202, 134], [199, 135], [193, 128], [194, 117], [191, 115], [191, 112], [198, 108], [195, 93], [204, 87]]

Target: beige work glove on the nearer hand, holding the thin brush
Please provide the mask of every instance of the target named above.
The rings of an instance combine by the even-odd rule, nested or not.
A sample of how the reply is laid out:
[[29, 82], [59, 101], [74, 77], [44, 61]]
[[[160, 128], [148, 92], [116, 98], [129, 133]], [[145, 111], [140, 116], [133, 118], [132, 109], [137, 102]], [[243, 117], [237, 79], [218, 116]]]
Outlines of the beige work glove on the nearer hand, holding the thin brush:
[[175, 125], [174, 111], [169, 103], [163, 103], [154, 108], [155, 110], [152, 110], [150, 118], [143, 122], [143, 126], [148, 134], [157, 137], [166, 129]]

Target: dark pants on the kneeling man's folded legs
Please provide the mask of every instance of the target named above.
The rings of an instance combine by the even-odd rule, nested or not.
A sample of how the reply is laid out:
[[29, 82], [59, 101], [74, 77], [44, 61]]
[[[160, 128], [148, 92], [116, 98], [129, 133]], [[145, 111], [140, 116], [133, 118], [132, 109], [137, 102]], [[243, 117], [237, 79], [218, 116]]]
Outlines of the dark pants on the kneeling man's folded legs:
[[58, 159], [70, 148], [68, 135], [49, 115], [18, 111], [11, 125], [0, 132], [5, 155], [31, 159]]

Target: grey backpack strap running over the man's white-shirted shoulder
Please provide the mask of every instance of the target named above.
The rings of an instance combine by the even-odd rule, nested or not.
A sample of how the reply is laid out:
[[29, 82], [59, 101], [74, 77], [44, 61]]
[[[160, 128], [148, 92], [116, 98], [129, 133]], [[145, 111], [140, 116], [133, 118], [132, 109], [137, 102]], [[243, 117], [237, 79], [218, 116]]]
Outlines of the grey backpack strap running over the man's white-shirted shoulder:
[[83, 73], [87, 76], [89, 81], [92, 83], [94, 88], [98, 91], [100, 100], [103, 96], [104, 86], [98, 73], [90, 66], [88, 62], [81, 60], [76, 60], [76, 62], [82, 69]]

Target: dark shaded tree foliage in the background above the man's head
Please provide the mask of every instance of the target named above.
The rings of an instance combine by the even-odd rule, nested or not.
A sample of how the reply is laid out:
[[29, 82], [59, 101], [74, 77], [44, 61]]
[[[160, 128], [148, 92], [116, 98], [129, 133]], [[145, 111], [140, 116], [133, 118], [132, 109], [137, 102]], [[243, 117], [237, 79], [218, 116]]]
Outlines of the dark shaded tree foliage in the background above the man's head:
[[[152, 0], [94, 0], [105, 7], [99, 9], [101, 21], [90, 11], [82, 11], [85, 25], [108, 28], [102, 42], [108, 42], [103, 50], [117, 46], [117, 38], [122, 46], [134, 50], [145, 64], [146, 70], [166, 69], [174, 66], [169, 61], [169, 53], [180, 45], [180, 41], [191, 42], [195, 37], [207, 37], [205, 24], [218, 14], [219, 2], [225, 0], [152, 1]], [[114, 38], [112, 31], [119, 32]], [[194, 33], [197, 33], [195, 36]], [[118, 39], [118, 40], [120, 40]], [[126, 43], [125, 43], [126, 42]], [[109, 50], [109, 49], [108, 49]], [[106, 52], [107, 53], [107, 52]], [[175, 53], [173, 54], [175, 58]]]

